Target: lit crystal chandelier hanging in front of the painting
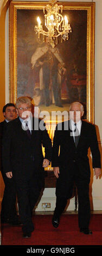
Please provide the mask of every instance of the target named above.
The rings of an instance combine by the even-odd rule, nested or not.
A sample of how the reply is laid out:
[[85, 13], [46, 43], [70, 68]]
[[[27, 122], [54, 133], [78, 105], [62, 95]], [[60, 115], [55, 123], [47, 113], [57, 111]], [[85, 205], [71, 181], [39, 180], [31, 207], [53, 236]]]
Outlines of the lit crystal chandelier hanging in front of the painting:
[[40, 39], [40, 35], [42, 34], [44, 41], [45, 36], [47, 36], [48, 42], [53, 48], [58, 44], [59, 36], [62, 42], [63, 40], [68, 40], [68, 33], [72, 32], [67, 16], [63, 18], [61, 14], [63, 6], [56, 4], [56, 2], [56, 0], [52, 0], [49, 2], [50, 4], [43, 7], [44, 25], [48, 31], [43, 30], [40, 17], [37, 17], [37, 26], [35, 26], [35, 32], [38, 34], [38, 38]]

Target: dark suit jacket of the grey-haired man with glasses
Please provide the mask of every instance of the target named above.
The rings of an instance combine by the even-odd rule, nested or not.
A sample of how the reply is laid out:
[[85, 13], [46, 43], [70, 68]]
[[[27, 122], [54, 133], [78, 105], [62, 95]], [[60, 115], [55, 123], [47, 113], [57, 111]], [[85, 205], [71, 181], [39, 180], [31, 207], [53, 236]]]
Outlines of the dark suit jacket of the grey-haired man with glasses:
[[[33, 119], [33, 128], [35, 120]], [[40, 122], [40, 120], [38, 120]], [[52, 142], [47, 130], [40, 129], [31, 132], [29, 139], [27, 132], [22, 129], [19, 118], [10, 121], [3, 139], [3, 169], [4, 172], [12, 171], [14, 179], [29, 178], [32, 171], [42, 178], [43, 154], [42, 145], [45, 148], [45, 159], [52, 159]], [[34, 158], [34, 162], [33, 162]]]

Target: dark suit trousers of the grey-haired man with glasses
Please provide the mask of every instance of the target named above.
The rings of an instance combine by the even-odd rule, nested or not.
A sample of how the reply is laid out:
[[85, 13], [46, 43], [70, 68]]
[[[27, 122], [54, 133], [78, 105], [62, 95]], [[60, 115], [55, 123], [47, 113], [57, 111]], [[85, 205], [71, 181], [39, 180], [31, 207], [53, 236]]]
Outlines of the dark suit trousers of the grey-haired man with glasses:
[[33, 208], [40, 196], [40, 189], [36, 179], [32, 176], [28, 179], [15, 180], [18, 199], [18, 210], [23, 224], [22, 230], [33, 231], [34, 225], [31, 220]]

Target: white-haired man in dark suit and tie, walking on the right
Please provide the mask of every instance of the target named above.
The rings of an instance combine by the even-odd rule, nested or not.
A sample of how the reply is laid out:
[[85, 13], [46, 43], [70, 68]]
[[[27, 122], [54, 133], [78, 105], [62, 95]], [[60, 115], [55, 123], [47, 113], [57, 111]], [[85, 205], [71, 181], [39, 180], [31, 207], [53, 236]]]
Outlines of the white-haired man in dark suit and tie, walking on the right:
[[[100, 152], [95, 126], [81, 120], [84, 107], [73, 102], [70, 107], [69, 121], [56, 126], [53, 140], [52, 166], [56, 181], [56, 207], [52, 219], [54, 227], [59, 226], [60, 215], [71, 198], [73, 185], [78, 189], [78, 220], [80, 231], [92, 234], [90, 223], [90, 164], [88, 148], [91, 149], [93, 168], [96, 178], [100, 175]], [[61, 129], [62, 125], [62, 129]], [[60, 147], [60, 154], [59, 154]]]

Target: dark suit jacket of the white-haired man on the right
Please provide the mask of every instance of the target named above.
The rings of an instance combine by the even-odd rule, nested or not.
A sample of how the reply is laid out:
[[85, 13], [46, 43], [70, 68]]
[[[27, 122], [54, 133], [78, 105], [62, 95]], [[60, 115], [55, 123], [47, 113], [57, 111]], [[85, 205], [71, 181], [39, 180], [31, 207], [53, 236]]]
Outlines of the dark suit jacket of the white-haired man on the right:
[[[58, 182], [58, 189], [60, 190], [61, 182], [65, 183], [63, 191], [67, 191], [69, 173], [72, 175], [73, 163], [76, 166], [76, 172], [79, 171], [80, 179], [90, 182], [90, 164], [88, 160], [88, 148], [92, 153], [92, 164], [94, 167], [100, 168], [100, 152], [98, 147], [97, 135], [95, 132], [95, 126], [86, 121], [82, 121], [81, 133], [77, 148], [75, 147], [74, 138], [70, 136], [69, 121], [62, 123], [62, 130], [58, 130], [56, 126], [54, 140], [53, 140], [53, 157], [52, 166], [60, 167], [60, 175]], [[64, 125], [68, 127], [68, 130], [64, 130]], [[60, 147], [60, 154], [59, 154]], [[78, 170], [77, 170], [78, 169]]]

